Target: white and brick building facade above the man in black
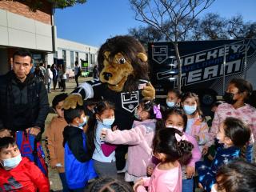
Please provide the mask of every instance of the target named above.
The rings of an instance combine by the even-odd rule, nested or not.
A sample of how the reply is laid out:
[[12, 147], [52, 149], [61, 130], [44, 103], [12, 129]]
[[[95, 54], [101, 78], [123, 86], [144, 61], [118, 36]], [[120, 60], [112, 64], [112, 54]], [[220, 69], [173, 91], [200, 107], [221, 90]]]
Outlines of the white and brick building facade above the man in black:
[[0, 74], [11, 69], [12, 54], [18, 48], [30, 50], [34, 65], [45, 62], [55, 50], [53, 5], [41, 2], [41, 8], [32, 11], [24, 1], [0, 1]]

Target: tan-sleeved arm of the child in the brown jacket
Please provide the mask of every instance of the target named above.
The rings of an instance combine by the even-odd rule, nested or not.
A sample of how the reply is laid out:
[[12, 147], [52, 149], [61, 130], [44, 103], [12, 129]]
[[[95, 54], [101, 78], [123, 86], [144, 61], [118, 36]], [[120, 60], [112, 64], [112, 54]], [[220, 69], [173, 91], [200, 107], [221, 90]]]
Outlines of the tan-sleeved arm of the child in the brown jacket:
[[51, 120], [49, 126], [46, 129], [46, 151], [47, 151], [47, 158], [50, 161], [50, 166], [54, 168], [57, 162], [57, 155], [55, 154], [54, 146], [55, 146], [55, 135], [54, 129], [51, 127], [53, 119]]

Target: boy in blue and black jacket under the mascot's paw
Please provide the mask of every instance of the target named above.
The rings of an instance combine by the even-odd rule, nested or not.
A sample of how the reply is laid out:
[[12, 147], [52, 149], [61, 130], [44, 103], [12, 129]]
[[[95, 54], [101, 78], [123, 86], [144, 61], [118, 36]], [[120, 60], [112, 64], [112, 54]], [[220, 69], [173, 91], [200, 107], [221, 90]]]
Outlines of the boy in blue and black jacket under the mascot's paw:
[[[69, 102], [67, 99], [64, 101]], [[70, 190], [84, 191], [89, 180], [96, 178], [93, 160], [93, 139], [87, 137], [83, 131], [86, 115], [83, 106], [64, 110], [64, 118], [68, 123], [63, 131], [63, 146], [65, 147], [65, 174]]]

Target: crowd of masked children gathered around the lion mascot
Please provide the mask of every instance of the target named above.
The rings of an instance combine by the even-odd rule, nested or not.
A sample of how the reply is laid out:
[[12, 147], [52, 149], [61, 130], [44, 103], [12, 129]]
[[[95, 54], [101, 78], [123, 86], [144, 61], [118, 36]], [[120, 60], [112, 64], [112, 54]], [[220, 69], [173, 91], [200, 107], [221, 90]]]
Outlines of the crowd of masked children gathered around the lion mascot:
[[[197, 94], [170, 90], [166, 105], [140, 102], [130, 130], [114, 126], [110, 102], [64, 110], [67, 94], [58, 94], [52, 102], [58, 115], [46, 129], [49, 165], [62, 191], [255, 191], [256, 109], [246, 104], [252, 90], [250, 82], [233, 79], [224, 102], [213, 106], [212, 123]], [[129, 146], [126, 182], [117, 180], [120, 145]], [[0, 130], [0, 191], [50, 191], [41, 148], [29, 132]]]

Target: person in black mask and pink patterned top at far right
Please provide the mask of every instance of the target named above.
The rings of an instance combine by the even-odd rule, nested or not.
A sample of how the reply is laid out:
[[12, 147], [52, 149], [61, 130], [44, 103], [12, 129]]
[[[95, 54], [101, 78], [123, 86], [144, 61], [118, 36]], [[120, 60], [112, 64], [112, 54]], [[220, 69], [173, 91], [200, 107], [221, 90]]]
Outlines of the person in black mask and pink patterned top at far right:
[[246, 125], [250, 126], [252, 131], [250, 143], [246, 148], [246, 159], [249, 162], [253, 162], [253, 144], [254, 138], [256, 138], [256, 109], [246, 104], [248, 99], [252, 97], [252, 92], [253, 86], [245, 79], [234, 78], [230, 81], [223, 96], [226, 103], [219, 105], [216, 110], [210, 128], [210, 141], [206, 143], [206, 146], [211, 146], [214, 143], [218, 127], [227, 117], [240, 118]]

